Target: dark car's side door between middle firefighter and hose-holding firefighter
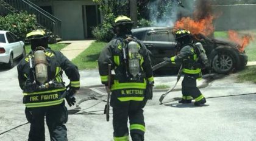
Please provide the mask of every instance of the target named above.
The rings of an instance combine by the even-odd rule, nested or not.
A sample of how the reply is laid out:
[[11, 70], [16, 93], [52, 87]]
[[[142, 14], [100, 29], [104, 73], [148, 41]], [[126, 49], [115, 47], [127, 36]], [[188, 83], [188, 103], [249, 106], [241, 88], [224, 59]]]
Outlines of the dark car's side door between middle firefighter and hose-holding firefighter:
[[158, 64], [164, 57], [176, 55], [176, 42], [171, 29], [149, 30], [144, 38], [144, 44], [152, 52], [152, 64]]

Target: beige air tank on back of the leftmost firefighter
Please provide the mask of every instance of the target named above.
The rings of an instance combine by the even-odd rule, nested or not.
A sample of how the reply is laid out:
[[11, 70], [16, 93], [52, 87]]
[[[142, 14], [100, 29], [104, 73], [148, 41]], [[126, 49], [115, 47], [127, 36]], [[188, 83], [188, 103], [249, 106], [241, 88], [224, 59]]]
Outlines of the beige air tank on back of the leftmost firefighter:
[[34, 53], [35, 57], [35, 77], [41, 84], [48, 80], [47, 60], [46, 55], [42, 50], [37, 50]]

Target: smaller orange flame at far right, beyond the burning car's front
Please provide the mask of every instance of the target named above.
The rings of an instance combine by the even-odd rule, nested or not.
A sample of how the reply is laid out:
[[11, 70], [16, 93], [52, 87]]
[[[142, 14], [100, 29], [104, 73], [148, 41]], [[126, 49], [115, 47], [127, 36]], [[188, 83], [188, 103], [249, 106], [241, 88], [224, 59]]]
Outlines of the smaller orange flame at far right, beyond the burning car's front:
[[239, 44], [239, 51], [244, 52], [245, 47], [248, 46], [248, 44], [254, 40], [254, 37], [252, 35], [244, 35], [239, 36], [238, 32], [235, 32], [234, 30], [229, 30], [229, 40], [235, 42], [236, 44]]

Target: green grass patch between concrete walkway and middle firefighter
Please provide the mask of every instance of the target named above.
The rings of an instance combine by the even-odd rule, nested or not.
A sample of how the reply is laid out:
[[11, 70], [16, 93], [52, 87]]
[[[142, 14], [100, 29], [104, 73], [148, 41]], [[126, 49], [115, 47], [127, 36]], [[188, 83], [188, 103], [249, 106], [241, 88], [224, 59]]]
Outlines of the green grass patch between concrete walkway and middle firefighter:
[[98, 68], [98, 58], [107, 43], [96, 41], [72, 60], [79, 69]]

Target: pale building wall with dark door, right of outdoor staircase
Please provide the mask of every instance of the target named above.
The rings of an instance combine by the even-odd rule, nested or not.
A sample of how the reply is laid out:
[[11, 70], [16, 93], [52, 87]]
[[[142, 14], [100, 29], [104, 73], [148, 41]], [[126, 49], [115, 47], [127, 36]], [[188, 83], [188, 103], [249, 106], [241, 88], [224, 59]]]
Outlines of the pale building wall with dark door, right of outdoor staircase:
[[92, 0], [30, 0], [60, 21], [63, 40], [93, 38], [92, 27], [101, 23], [98, 5]]

